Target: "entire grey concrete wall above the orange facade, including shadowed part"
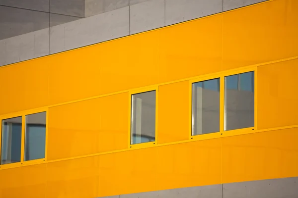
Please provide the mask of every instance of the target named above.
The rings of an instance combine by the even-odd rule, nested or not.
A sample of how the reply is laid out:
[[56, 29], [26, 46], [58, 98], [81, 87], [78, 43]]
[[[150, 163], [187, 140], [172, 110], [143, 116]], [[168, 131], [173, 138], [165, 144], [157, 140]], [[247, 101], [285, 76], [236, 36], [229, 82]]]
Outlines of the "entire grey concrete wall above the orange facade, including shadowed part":
[[[7, 7], [16, 1], [22, 9]], [[48, 8], [30, 1], [0, 0], [0, 66], [265, 0], [51, 0]]]

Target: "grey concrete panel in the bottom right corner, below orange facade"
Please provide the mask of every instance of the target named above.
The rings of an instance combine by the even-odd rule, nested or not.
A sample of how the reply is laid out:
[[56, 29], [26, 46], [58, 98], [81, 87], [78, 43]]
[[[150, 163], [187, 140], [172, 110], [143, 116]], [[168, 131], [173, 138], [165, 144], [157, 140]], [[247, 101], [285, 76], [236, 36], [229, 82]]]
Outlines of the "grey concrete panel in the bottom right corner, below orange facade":
[[223, 198], [298, 198], [298, 178], [224, 184]]

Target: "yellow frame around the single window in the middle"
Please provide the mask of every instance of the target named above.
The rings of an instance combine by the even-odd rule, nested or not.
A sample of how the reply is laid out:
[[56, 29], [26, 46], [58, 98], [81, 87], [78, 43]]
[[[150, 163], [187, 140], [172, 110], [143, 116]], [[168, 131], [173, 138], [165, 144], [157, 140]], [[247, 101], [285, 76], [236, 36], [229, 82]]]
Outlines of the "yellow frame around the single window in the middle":
[[[131, 139], [132, 139], [132, 132], [131, 132], [131, 123], [132, 123], [132, 95], [135, 94], [141, 94], [145, 92], [150, 92], [150, 91], [155, 91], [155, 141], [153, 142], [148, 142], [148, 143], [139, 143], [139, 144], [131, 144]], [[157, 121], [158, 121], [158, 86], [149, 86], [145, 88], [140, 88], [140, 89], [134, 89], [129, 91], [129, 116], [128, 116], [128, 133], [129, 133], [129, 138], [128, 138], [128, 148], [149, 148], [156, 146], [157, 144]]]

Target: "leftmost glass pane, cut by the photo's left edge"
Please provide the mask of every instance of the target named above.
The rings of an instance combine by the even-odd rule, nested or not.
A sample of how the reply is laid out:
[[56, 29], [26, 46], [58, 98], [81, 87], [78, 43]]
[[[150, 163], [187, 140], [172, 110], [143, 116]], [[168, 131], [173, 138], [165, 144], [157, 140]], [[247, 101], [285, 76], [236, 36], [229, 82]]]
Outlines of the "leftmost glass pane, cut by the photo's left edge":
[[1, 164], [21, 161], [22, 117], [2, 120]]

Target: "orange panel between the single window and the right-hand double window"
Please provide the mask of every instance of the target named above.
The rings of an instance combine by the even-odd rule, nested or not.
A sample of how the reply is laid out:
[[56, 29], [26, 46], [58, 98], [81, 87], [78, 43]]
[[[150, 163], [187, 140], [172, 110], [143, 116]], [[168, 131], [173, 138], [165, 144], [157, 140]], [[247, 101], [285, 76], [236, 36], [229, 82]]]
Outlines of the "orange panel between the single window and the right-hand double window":
[[188, 93], [188, 81], [158, 87], [158, 144], [188, 140]]

